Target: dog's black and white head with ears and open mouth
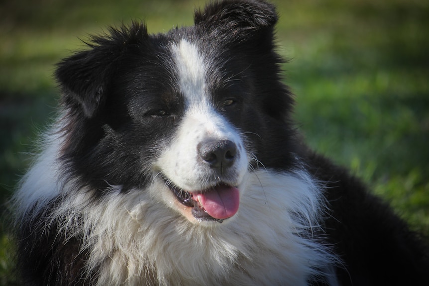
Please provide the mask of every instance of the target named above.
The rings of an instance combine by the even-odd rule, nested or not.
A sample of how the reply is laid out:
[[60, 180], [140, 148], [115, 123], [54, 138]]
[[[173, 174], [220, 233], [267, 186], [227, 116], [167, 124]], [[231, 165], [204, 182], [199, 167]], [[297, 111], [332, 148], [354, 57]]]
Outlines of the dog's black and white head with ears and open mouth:
[[112, 28], [60, 62], [67, 173], [99, 196], [151, 186], [191, 221], [233, 216], [248, 174], [294, 161], [276, 21], [266, 2], [218, 1], [192, 27]]

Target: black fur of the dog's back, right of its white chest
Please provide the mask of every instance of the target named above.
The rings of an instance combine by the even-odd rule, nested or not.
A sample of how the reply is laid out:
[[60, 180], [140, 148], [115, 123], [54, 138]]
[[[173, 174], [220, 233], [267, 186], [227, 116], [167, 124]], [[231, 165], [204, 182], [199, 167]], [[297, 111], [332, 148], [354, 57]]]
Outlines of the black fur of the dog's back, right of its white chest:
[[312, 173], [331, 182], [323, 228], [344, 262], [336, 270], [340, 285], [427, 285], [427, 240], [347, 170], [320, 155], [308, 159]]

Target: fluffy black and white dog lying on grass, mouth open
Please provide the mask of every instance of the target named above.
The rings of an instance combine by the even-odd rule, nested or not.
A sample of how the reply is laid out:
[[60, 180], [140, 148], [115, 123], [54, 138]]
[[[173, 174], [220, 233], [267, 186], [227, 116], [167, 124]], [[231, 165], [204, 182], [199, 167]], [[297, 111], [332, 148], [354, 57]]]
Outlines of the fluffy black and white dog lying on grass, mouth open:
[[215, 1], [58, 64], [59, 120], [15, 196], [25, 285], [429, 285], [418, 235], [301, 141], [276, 21]]

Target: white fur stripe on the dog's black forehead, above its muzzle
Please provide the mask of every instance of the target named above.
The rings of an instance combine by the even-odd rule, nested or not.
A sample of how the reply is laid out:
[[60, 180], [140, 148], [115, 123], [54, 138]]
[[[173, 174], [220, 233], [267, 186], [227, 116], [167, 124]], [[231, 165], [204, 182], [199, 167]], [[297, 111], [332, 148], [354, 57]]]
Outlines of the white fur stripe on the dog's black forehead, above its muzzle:
[[182, 39], [172, 51], [186, 104], [202, 103], [206, 92], [206, 67], [197, 46]]

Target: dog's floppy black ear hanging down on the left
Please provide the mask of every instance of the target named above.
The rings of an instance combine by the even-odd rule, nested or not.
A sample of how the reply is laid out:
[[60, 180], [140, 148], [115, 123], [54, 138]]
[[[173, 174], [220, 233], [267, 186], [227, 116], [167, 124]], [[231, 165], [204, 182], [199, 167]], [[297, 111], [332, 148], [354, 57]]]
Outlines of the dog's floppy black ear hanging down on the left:
[[109, 35], [92, 39], [89, 50], [58, 63], [55, 76], [66, 106], [79, 108], [89, 118], [95, 116], [106, 101], [117, 60], [125, 50], [139, 46], [145, 39], [147, 29], [143, 24], [110, 28]]

